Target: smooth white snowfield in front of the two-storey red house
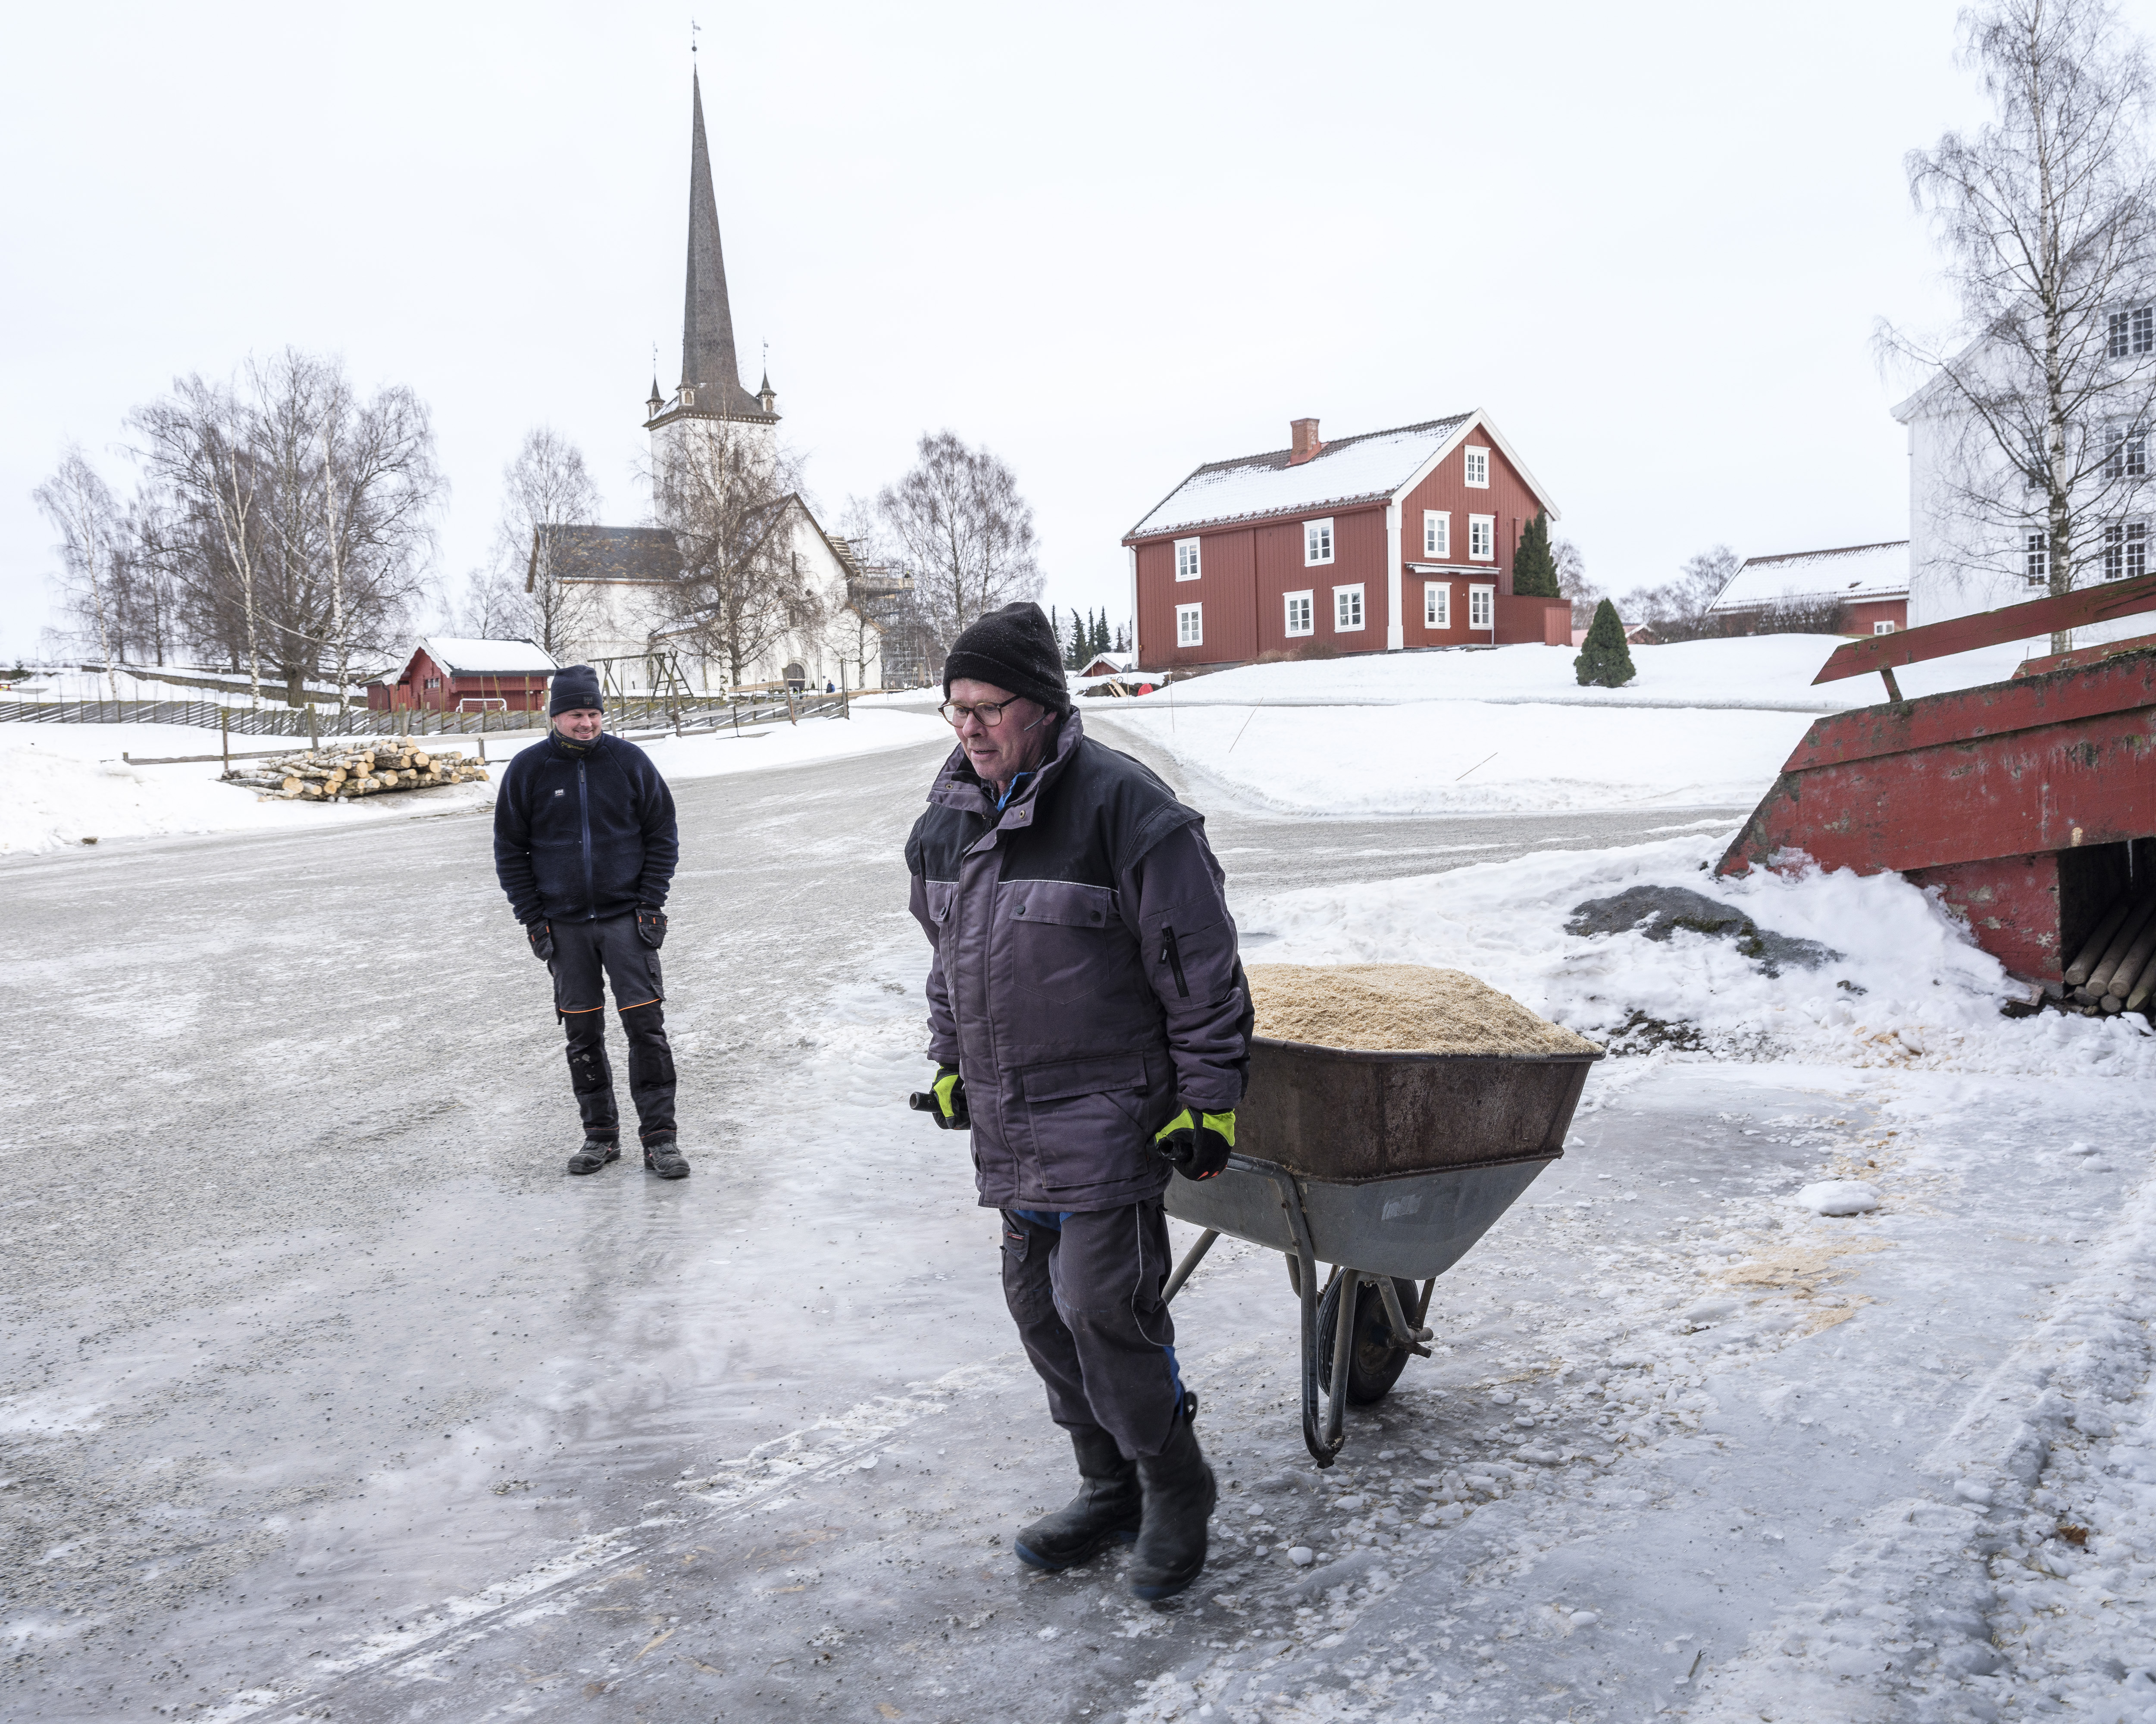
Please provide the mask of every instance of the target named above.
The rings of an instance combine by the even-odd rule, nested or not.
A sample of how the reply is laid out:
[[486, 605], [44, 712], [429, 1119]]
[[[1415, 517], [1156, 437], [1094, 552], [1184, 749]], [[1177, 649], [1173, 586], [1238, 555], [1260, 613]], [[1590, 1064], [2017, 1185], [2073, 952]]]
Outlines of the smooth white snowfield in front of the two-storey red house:
[[[1580, 687], [1572, 653], [1393, 653], [1259, 664], [1087, 703], [1201, 782], [1285, 815], [1755, 804], [1820, 713], [1878, 677], [1811, 687], [1822, 636], [1639, 646], [1636, 681]], [[1899, 675], [1908, 696], [2009, 677], [2018, 646]]]

